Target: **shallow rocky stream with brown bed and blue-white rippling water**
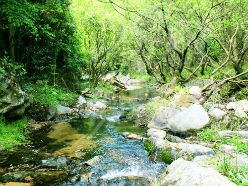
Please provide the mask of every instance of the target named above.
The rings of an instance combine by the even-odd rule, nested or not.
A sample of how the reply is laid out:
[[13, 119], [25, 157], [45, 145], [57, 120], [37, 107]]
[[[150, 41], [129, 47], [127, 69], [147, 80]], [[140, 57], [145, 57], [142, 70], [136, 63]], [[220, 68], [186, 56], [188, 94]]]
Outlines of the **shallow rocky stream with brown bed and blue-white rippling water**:
[[0, 154], [1, 182], [34, 185], [149, 185], [165, 169], [150, 161], [143, 139], [126, 139], [123, 132], [145, 136], [125, 116], [154, 93], [139, 89], [109, 101], [108, 110], [88, 118], [56, 122], [32, 137], [28, 147]]

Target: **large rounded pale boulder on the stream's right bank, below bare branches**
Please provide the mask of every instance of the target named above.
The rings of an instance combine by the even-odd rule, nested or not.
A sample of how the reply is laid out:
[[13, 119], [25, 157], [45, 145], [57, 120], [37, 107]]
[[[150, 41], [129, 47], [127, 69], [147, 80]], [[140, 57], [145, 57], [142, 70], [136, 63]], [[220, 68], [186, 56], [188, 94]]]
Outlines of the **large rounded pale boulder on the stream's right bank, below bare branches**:
[[201, 105], [188, 108], [164, 107], [158, 110], [148, 128], [169, 129], [174, 132], [187, 132], [204, 128], [209, 123], [208, 113]]

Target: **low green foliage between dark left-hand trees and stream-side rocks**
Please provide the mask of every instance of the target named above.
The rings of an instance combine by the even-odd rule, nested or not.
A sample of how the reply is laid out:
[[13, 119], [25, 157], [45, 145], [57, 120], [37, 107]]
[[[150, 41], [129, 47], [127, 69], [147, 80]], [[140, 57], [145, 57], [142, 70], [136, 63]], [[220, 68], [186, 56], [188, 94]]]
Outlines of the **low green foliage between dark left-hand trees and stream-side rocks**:
[[66, 92], [59, 87], [50, 86], [46, 81], [37, 81], [36, 84], [28, 84], [25, 89], [33, 96], [35, 104], [45, 106], [58, 105], [59, 103], [71, 106], [78, 97], [76, 93]]

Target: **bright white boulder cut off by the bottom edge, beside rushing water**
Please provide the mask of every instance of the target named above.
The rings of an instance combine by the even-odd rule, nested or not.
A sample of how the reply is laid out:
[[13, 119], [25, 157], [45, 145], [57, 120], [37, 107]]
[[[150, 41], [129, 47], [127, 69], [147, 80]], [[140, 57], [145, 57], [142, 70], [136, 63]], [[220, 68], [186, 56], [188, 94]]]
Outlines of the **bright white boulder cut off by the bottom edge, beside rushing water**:
[[227, 177], [213, 168], [205, 168], [197, 163], [180, 158], [167, 168], [168, 174], [163, 175], [154, 185], [166, 186], [235, 186]]

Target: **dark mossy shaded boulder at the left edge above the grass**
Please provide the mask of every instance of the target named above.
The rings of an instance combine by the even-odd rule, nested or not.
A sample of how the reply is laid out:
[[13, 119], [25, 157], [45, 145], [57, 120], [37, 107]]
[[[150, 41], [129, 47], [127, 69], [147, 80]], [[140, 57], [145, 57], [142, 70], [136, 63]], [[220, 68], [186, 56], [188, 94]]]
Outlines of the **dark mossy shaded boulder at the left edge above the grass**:
[[26, 93], [14, 79], [0, 76], [0, 115], [20, 117], [29, 104]]

